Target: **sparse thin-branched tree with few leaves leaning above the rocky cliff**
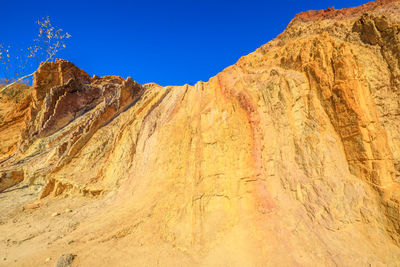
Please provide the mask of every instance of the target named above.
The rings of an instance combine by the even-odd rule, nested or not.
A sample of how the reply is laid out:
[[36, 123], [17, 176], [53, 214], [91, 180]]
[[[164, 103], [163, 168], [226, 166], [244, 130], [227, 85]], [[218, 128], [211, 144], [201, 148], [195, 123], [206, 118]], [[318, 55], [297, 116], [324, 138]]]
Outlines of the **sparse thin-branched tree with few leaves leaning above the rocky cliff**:
[[0, 93], [13, 84], [33, 76], [36, 71], [26, 74], [26, 69], [30, 64], [37, 69], [42, 62], [52, 61], [55, 55], [66, 47], [65, 41], [71, 35], [53, 26], [49, 17], [39, 20], [37, 24], [39, 25], [38, 36], [26, 50], [20, 49], [18, 53], [13, 54], [11, 46], [0, 44], [0, 68], [3, 71], [1, 82], [5, 84], [0, 89]]

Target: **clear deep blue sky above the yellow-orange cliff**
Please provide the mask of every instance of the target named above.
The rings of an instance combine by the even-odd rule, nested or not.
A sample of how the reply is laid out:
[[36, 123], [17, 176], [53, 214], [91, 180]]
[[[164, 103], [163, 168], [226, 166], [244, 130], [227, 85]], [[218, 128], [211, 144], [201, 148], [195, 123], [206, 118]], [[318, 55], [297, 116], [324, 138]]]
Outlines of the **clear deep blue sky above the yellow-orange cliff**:
[[194, 84], [275, 38], [299, 12], [366, 2], [0, 0], [0, 43], [29, 44], [35, 21], [49, 16], [72, 35], [58, 57], [90, 75]]

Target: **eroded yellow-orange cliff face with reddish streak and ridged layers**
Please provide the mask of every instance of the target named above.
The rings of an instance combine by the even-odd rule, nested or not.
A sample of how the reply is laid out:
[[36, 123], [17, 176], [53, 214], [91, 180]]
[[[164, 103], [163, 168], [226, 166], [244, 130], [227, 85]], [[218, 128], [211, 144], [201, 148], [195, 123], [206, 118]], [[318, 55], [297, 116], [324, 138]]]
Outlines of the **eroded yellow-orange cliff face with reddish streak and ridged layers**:
[[[1, 117], [0, 190], [28, 184], [41, 205], [5, 219], [20, 242], [2, 250], [20, 264], [68, 250], [79, 266], [400, 265], [399, 22], [399, 1], [305, 12], [195, 86], [42, 65]], [[64, 218], [78, 224], [39, 218], [77, 199], [91, 203]], [[24, 239], [24, 218], [62, 237], [29, 250], [51, 231]]]

